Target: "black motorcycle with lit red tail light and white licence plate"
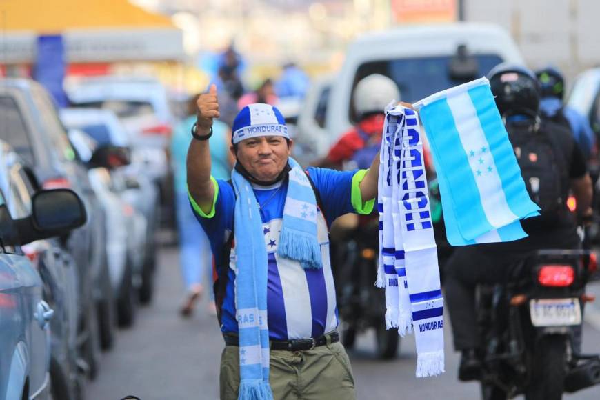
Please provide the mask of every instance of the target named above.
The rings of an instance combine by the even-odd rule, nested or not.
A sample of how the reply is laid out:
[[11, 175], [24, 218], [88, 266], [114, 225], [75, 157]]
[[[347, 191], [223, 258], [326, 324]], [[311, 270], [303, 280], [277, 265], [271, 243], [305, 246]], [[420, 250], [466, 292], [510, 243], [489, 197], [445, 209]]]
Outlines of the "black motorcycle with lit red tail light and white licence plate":
[[597, 275], [587, 250], [539, 250], [506, 285], [477, 288], [483, 400], [561, 399], [600, 383], [600, 357], [581, 354], [586, 283]]

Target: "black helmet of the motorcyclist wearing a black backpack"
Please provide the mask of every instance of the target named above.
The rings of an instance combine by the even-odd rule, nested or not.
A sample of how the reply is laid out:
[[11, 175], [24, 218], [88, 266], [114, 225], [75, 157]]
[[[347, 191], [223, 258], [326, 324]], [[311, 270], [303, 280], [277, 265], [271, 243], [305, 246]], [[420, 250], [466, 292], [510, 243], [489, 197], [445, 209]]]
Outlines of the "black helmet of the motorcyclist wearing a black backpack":
[[502, 117], [514, 114], [537, 116], [541, 90], [532, 71], [502, 63], [492, 68], [488, 79]]

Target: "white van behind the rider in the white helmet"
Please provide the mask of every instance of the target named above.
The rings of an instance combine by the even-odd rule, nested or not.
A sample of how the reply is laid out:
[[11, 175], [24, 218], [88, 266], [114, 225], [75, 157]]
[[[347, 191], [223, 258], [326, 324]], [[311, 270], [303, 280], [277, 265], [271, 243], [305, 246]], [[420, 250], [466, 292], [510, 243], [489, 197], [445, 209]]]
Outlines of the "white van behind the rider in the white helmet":
[[[466, 59], [459, 57], [460, 50], [466, 52]], [[310, 116], [301, 116], [305, 129], [300, 126], [299, 135], [303, 141], [319, 143], [314, 156], [323, 157], [329, 146], [356, 122], [352, 92], [358, 81], [370, 74], [390, 77], [400, 89], [401, 100], [414, 103], [439, 90], [482, 77], [503, 61], [523, 64], [508, 33], [489, 24], [408, 26], [366, 34], [348, 46], [346, 60], [332, 81], [325, 121], [310, 124], [308, 131], [306, 119]], [[319, 94], [316, 96], [319, 98]], [[302, 112], [319, 114], [314, 111], [305, 107]]]

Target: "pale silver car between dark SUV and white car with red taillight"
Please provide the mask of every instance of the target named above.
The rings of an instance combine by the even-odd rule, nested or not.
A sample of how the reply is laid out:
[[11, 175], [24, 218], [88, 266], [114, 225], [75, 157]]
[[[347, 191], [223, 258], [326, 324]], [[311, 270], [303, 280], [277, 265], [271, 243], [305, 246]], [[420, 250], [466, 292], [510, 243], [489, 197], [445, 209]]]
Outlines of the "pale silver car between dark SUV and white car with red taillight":
[[[99, 108], [66, 108], [61, 110], [61, 119], [68, 128], [86, 132], [100, 146], [131, 146], [130, 134], [123, 128], [114, 112]], [[146, 245], [141, 257], [141, 266], [134, 260], [134, 273], [139, 272], [139, 299], [142, 303], [152, 300], [157, 246], [154, 232], [159, 226], [159, 192], [146, 174], [146, 163], [132, 150], [131, 163], [112, 170], [112, 181], [119, 186], [119, 196], [146, 218]]]

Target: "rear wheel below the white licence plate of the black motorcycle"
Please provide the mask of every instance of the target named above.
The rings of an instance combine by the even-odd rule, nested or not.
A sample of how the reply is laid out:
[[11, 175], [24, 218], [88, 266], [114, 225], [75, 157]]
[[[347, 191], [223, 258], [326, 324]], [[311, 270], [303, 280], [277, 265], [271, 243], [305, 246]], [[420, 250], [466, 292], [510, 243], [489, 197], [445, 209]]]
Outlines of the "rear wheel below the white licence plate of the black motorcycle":
[[567, 342], [563, 336], [543, 337], [537, 343], [526, 400], [561, 400], [566, 376]]

